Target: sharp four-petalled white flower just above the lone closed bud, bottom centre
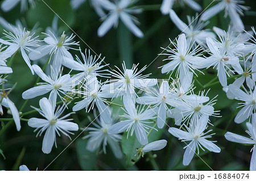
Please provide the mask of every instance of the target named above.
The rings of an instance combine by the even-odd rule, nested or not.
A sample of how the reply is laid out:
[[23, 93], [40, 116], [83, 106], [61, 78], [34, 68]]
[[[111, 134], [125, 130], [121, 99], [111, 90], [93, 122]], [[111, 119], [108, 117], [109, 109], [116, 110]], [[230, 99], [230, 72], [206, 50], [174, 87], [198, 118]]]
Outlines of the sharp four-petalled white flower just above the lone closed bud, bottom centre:
[[135, 107], [135, 103], [133, 102], [133, 100], [127, 98], [126, 96], [123, 97], [123, 105], [126, 109], [126, 113], [125, 115], [123, 115], [123, 117], [125, 117], [127, 120], [120, 121], [119, 123], [112, 125], [112, 127], [108, 129], [108, 133], [118, 134], [127, 131], [128, 137], [129, 134], [133, 136], [133, 133], [135, 132], [135, 135], [139, 143], [142, 145], [146, 145], [148, 143], [147, 129], [155, 129], [147, 125], [153, 122], [149, 122], [146, 120], [155, 118], [157, 112], [156, 108], [149, 108], [146, 110], [142, 108], [139, 111], [137, 111], [137, 108]]

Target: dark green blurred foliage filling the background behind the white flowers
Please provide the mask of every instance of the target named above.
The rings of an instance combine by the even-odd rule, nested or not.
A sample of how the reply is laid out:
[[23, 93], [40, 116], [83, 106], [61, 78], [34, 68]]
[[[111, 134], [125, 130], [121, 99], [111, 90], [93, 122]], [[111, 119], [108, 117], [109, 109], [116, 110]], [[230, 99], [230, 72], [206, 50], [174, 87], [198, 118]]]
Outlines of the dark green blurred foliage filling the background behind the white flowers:
[[[139, 22], [141, 22], [139, 28], [144, 33], [142, 39], [132, 35], [121, 23], [117, 30], [112, 28], [104, 37], [98, 37], [97, 28], [100, 26], [101, 20], [92, 7], [90, 7], [89, 1], [83, 3], [76, 11], [72, 10], [68, 0], [44, 1], [60, 16], [59, 27], [67, 33], [72, 33], [69, 29], [71, 27], [80, 37], [76, 37], [76, 41], [80, 41], [81, 49], [88, 49], [90, 47], [97, 54], [101, 53], [102, 56], [106, 57], [105, 62], [109, 63], [111, 68], [114, 68], [114, 65], [120, 67], [122, 61], [126, 61], [129, 66], [132, 63], [139, 63], [139, 68], [151, 64], [144, 71], [144, 74], [151, 73], [152, 78], [168, 78], [168, 75], [161, 74], [160, 69], [158, 69], [159, 66], [163, 65], [162, 60], [164, 59], [163, 56], [159, 57], [158, 54], [162, 52], [160, 47], [167, 47], [170, 43], [169, 38], [174, 40], [180, 31], [171, 22], [168, 15], [164, 16], [160, 13], [159, 7], [162, 0], [138, 1], [138, 6], [147, 7], [142, 14], [137, 15]], [[210, 1], [201, 0], [198, 2], [203, 7], [207, 7]], [[242, 20], [245, 24], [245, 30], [250, 30], [250, 27], [256, 24], [256, 1], [246, 0], [245, 5], [250, 6], [251, 9], [245, 12]], [[54, 13], [49, 7], [42, 1], [37, 1], [36, 6], [28, 11], [20, 12], [20, 7], [16, 6], [10, 12], [0, 11], [0, 16], [11, 24], [15, 24], [15, 20], [20, 19], [22, 22], [26, 22], [28, 30], [36, 26], [40, 31], [44, 32], [47, 26], [51, 26], [54, 16]], [[187, 15], [195, 16], [195, 11], [188, 7], [175, 6], [174, 10], [185, 23], [187, 23]], [[214, 16], [214, 18], [210, 19], [207, 28], [211, 29], [213, 26], [217, 26], [227, 30], [229, 20], [223, 18], [223, 16], [224, 12]], [[3, 32], [2, 28], [0, 32]], [[42, 36], [40, 33], [38, 35]], [[72, 54], [74, 53], [72, 52]], [[39, 62], [39, 64], [43, 66], [44, 62]], [[17, 83], [17, 85], [10, 94], [10, 99], [13, 100], [19, 109], [24, 103], [21, 96], [22, 92], [34, 86], [37, 77], [32, 76], [20, 53], [16, 54], [12, 68], [14, 73], [9, 75], [8, 85], [10, 87], [14, 83]], [[67, 73], [68, 71], [64, 69], [64, 72]], [[204, 75], [200, 73], [198, 75], [197, 80], [202, 85], [205, 85], [216, 77], [216, 73], [212, 70], [204, 71]], [[197, 87], [196, 92], [204, 88], [196, 81], [195, 86]], [[208, 89], [210, 89], [208, 94], [210, 99], [218, 95], [218, 101], [214, 108], [215, 110], [220, 110], [222, 117], [211, 117], [210, 120], [214, 127], [210, 129], [213, 129], [213, 132], [216, 133], [212, 140], [217, 141], [217, 145], [221, 147], [221, 153], [201, 151], [199, 154], [200, 157], [213, 170], [249, 170], [251, 146], [235, 144], [224, 138], [226, 131], [232, 131], [242, 135], [246, 134], [245, 123], [238, 125], [233, 121], [237, 113], [237, 101], [226, 98], [220, 83], [209, 86], [206, 90]], [[32, 110], [30, 105], [39, 107], [38, 102], [40, 98], [28, 100], [28, 104], [23, 112]], [[118, 103], [118, 100], [114, 100], [114, 102]], [[69, 104], [68, 111], [71, 111], [72, 106], [73, 103]], [[121, 114], [122, 110], [120, 107], [112, 105], [112, 108], [115, 115]], [[4, 110], [4, 112], [7, 112], [7, 110]], [[38, 116], [38, 113], [32, 113], [31, 115], [24, 116], [24, 118], [29, 119], [32, 116]], [[79, 124], [80, 128], [90, 123], [87, 116], [93, 117], [93, 114], [85, 114], [85, 111], [81, 110], [72, 115], [74, 121]], [[11, 117], [11, 115], [5, 114], [1, 117]], [[167, 120], [167, 123], [170, 127], [174, 126], [172, 119]], [[17, 170], [18, 166], [23, 164], [27, 165], [30, 170], [36, 170], [37, 168], [38, 170], [44, 170], [46, 167], [47, 170], [210, 170], [196, 155], [189, 166], [183, 166], [184, 144], [177, 140], [177, 138], [173, 138], [167, 132], [167, 128], [158, 132], [153, 130], [149, 138], [150, 141], [160, 138], [166, 139], [168, 141], [166, 148], [146, 154], [142, 159], [137, 159], [134, 156], [136, 153], [135, 149], [141, 146], [138, 144], [135, 136], [129, 137], [127, 140], [126, 133], [124, 133], [122, 149], [126, 157], [116, 159], [112, 150], [108, 147], [106, 155], [101, 150], [97, 150], [96, 153], [90, 153], [90, 151], [86, 150], [86, 140], [81, 140], [81, 137], [86, 134], [86, 131], [71, 145], [69, 145], [71, 141], [67, 137], [57, 137], [57, 149], [53, 147], [51, 154], [43, 154], [41, 150], [43, 136], [36, 137], [34, 129], [28, 127], [26, 121], [22, 121], [21, 124], [22, 129], [20, 132], [17, 132], [13, 121], [1, 122], [0, 170]], [[76, 132], [72, 138], [76, 138], [80, 132]], [[65, 149], [67, 146], [68, 148]], [[61, 152], [62, 150], [64, 151]], [[5, 157], [1, 154], [5, 155]], [[156, 154], [157, 157], [155, 158], [153, 154]], [[55, 159], [54, 162], [52, 162], [53, 159]], [[135, 163], [135, 161], [138, 162]]]

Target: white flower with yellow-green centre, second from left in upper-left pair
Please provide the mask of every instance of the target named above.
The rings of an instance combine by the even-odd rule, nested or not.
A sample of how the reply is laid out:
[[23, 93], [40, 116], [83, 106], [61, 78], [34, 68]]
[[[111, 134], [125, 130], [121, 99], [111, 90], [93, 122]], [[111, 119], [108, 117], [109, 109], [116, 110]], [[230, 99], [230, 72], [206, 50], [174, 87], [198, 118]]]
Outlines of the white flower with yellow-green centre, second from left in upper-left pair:
[[55, 70], [60, 70], [61, 64], [63, 64], [64, 57], [72, 58], [72, 54], [68, 52], [69, 49], [75, 49], [71, 46], [79, 45], [79, 42], [74, 41], [75, 35], [73, 33], [71, 36], [65, 35], [65, 32], [62, 33], [60, 37], [56, 37], [53, 33], [44, 33], [47, 35], [47, 37], [44, 39], [44, 42], [47, 45], [43, 45], [37, 49], [35, 49], [36, 52], [31, 52], [29, 54], [29, 57], [31, 60], [38, 60], [39, 58], [42, 58], [43, 56], [46, 56], [47, 54], [50, 54], [52, 57], [53, 55], [53, 62], [52, 66]]

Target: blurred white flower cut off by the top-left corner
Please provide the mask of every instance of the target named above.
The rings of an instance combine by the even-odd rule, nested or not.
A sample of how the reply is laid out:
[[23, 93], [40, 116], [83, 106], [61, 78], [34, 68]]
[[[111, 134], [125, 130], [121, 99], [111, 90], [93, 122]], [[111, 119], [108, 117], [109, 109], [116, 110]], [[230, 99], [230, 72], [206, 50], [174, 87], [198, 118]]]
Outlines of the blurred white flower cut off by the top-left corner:
[[1, 5], [1, 9], [5, 12], [12, 10], [20, 2], [20, 11], [27, 10], [27, 5], [35, 6], [35, 0], [5, 0]]

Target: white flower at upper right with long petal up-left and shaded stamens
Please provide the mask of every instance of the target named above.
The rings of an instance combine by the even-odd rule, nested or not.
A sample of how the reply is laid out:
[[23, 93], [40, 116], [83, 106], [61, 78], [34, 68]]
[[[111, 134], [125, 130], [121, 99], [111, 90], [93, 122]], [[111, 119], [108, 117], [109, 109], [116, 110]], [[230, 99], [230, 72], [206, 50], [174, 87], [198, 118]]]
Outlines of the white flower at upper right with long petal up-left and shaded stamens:
[[201, 22], [201, 20], [187, 16], [189, 24], [189, 26], [187, 26], [187, 24], [181, 21], [181, 19], [176, 15], [174, 10], [170, 10], [170, 18], [176, 27], [179, 28], [181, 32], [185, 33], [188, 40], [191, 39], [192, 42], [195, 41], [203, 47], [206, 47], [205, 43], [207, 37], [216, 37], [213, 32], [203, 30], [203, 28], [207, 26], [208, 22]]

